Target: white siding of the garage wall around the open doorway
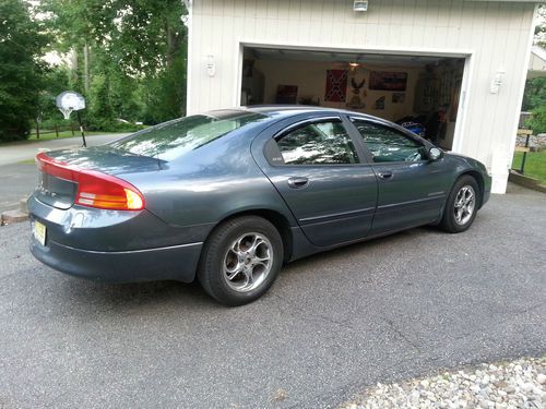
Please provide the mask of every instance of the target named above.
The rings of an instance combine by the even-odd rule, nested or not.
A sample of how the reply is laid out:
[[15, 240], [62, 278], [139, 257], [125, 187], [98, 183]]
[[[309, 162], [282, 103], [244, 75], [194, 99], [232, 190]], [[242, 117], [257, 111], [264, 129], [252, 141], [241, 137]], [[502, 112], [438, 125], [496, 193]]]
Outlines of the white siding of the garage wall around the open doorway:
[[[505, 192], [535, 5], [462, 0], [195, 0], [191, 10], [188, 112], [240, 98], [241, 44], [468, 56], [453, 149], [494, 171]], [[206, 72], [213, 55], [216, 74]], [[489, 85], [506, 71], [499, 94]]]

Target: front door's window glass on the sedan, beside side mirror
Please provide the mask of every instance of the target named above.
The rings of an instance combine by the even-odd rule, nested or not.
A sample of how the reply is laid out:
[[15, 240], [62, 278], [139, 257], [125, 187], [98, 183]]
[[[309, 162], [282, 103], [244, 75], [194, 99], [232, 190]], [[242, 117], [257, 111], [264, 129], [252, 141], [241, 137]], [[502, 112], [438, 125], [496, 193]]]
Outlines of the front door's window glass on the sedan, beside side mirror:
[[424, 146], [407, 135], [387, 127], [354, 121], [375, 163], [419, 161], [426, 159]]

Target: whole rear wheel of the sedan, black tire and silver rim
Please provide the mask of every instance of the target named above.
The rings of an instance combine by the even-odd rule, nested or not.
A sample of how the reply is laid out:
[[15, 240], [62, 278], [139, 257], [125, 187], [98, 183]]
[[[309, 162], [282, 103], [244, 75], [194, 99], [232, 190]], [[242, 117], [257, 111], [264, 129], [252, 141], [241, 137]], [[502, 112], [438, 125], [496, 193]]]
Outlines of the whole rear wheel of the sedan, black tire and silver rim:
[[277, 229], [258, 216], [221, 224], [206, 240], [198, 267], [203, 289], [226, 305], [242, 305], [263, 296], [283, 264]]

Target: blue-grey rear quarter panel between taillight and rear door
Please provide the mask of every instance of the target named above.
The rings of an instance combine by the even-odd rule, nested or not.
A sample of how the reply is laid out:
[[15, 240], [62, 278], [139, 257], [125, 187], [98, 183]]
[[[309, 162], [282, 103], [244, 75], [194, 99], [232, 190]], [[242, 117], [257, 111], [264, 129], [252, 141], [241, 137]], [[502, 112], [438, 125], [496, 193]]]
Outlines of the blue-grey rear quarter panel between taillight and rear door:
[[[250, 154], [253, 135], [234, 132], [169, 163], [154, 173], [123, 175], [146, 200], [146, 209], [173, 226], [207, 226], [251, 209], [295, 220]], [[204, 240], [205, 237], [201, 238]]]

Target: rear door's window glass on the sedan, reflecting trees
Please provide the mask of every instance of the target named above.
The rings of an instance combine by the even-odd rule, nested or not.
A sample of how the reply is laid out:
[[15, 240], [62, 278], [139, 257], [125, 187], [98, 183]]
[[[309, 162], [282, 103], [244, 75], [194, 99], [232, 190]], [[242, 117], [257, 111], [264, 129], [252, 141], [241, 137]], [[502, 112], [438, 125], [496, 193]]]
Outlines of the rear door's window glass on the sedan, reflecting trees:
[[341, 121], [313, 122], [277, 140], [285, 165], [357, 164], [358, 156]]

